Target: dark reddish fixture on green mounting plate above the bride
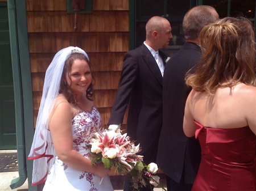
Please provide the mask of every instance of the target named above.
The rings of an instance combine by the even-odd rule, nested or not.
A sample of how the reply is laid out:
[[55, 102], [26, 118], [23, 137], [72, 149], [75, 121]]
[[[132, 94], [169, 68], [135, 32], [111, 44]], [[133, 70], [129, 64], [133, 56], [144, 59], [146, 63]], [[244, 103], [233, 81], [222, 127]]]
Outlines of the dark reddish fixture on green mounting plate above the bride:
[[80, 14], [92, 14], [92, 0], [67, 0], [68, 14], [75, 14], [75, 31], [77, 31], [78, 17]]

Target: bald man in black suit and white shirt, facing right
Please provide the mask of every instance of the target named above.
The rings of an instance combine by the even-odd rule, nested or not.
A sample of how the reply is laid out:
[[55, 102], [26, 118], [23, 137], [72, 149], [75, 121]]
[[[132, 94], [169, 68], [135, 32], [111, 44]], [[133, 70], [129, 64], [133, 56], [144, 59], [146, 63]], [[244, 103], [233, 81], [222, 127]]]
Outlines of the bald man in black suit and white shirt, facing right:
[[[127, 105], [127, 134], [140, 143], [144, 162], [156, 162], [162, 127], [163, 72], [166, 65], [160, 48], [167, 48], [172, 39], [167, 19], [154, 16], [146, 24], [146, 40], [123, 58], [123, 69], [108, 124], [113, 129], [122, 124]], [[130, 190], [126, 184], [124, 190]], [[152, 190], [144, 187], [140, 190]]]

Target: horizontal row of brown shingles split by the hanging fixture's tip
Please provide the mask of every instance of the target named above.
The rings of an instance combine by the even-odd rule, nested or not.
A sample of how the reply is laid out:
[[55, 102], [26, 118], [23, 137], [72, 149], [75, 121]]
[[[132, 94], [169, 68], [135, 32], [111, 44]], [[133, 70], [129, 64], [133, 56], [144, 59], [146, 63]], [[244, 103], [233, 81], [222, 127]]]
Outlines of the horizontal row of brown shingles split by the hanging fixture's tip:
[[[28, 32], [73, 32], [74, 14], [67, 11], [27, 12]], [[79, 14], [77, 32], [127, 32], [128, 11], [94, 11]]]

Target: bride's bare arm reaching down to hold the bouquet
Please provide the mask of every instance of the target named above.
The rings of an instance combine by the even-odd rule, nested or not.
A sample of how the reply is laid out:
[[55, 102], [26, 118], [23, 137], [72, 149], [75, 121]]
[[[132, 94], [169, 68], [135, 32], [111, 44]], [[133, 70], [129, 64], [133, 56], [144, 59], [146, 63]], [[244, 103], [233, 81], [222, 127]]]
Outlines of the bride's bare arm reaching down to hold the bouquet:
[[91, 165], [90, 159], [73, 150], [72, 117], [71, 105], [62, 101], [56, 105], [49, 121], [49, 129], [58, 158], [71, 168], [94, 173], [100, 177], [106, 176], [108, 171], [103, 164]]

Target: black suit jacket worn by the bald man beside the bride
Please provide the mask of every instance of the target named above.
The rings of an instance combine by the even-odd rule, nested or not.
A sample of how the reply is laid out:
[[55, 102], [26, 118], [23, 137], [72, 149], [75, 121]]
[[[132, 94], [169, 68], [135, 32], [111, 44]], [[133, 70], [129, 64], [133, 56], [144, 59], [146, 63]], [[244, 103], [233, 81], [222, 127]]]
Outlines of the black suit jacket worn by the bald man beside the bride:
[[[164, 61], [167, 57], [159, 50]], [[164, 61], [165, 64], [165, 61]], [[141, 155], [158, 144], [162, 127], [163, 77], [150, 50], [143, 44], [123, 58], [123, 69], [108, 124], [122, 124], [129, 104], [127, 134], [142, 147]], [[154, 158], [156, 160], [157, 145]], [[150, 158], [144, 162], [155, 162]]]

